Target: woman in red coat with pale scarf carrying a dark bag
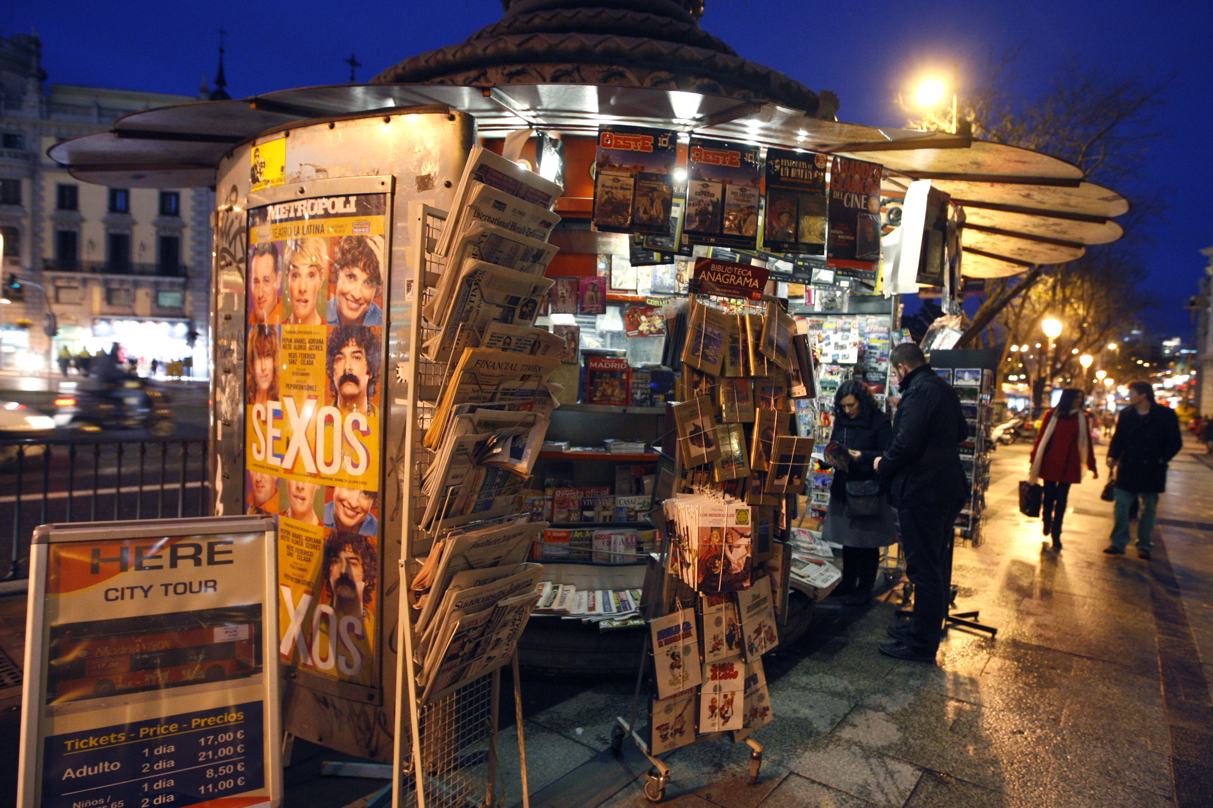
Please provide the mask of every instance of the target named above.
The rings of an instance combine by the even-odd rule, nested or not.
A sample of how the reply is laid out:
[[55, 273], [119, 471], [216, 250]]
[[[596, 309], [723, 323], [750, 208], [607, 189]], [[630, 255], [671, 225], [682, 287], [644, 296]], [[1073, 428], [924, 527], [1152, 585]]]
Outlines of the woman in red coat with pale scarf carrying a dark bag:
[[1066, 388], [1058, 406], [1044, 413], [1041, 430], [1032, 446], [1032, 469], [1027, 481], [1044, 481], [1044, 535], [1053, 537], [1053, 549], [1061, 549], [1061, 517], [1065, 515], [1070, 486], [1082, 482], [1082, 464], [1099, 479], [1095, 447], [1090, 442], [1090, 413], [1082, 408], [1082, 390]]

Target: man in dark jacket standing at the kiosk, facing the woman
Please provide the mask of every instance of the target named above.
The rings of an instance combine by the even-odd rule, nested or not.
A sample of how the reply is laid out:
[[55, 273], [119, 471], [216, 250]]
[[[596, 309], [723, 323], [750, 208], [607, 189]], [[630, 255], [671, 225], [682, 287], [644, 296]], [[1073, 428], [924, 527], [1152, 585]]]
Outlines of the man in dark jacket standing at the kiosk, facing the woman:
[[877, 458], [876, 471], [888, 481], [889, 502], [898, 509], [913, 620], [909, 629], [890, 628], [896, 642], [881, 646], [881, 653], [934, 663], [947, 615], [947, 546], [969, 495], [957, 448], [969, 428], [956, 391], [930, 369], [917, 345], [894, 346], [889, 366], [900, 378], [901, 400], [893, 443]]

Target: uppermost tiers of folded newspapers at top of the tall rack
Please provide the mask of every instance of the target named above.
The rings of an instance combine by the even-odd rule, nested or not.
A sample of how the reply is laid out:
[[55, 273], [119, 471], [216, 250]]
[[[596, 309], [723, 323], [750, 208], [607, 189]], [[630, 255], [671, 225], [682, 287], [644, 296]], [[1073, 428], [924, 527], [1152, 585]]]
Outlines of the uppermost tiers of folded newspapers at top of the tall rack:
[[535, 353], [518, 340], [533, 334], [552, 281], [543, 277], [557, 248], [547, 243], [560, 217], [552, 205], [560, 185], [477, 145], [455, 190], [455, 201], [434, 253], [445, 257], [422, 314], [438, 333], [422, 351], [434, 361], [465, 348], [486, 348], [492, 323], [513, 326], [492, 346]]

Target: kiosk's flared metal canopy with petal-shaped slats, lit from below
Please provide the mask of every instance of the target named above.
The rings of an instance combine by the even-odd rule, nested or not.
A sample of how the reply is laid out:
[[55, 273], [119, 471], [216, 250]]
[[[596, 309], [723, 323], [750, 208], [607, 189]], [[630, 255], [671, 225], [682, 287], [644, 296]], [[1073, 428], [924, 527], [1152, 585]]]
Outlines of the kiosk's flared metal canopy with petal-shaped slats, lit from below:
[[884, 193], [913, 179], [964, 207], [964, 275], [1018, 275], [1031, 264], [1081, 257], [1120, 239], [1114, 217], [1129, 210], [1114, 190], [1083, 182], [1064, 160], [940, 132], [860, 126], [809, 118], [770, 103], [677, 90], [597, 85], [334, 85], [283, 90], [241, 101], [161, 107], [114, 121], [108, 132], [57, 143], [47, 154], [78, 179], [125, 188], [213, 185], [220, 160], [258, 134], [342, 116], [457, 109], [482, 136], [526, 127], [591, 134], [604, 124], [654, 126], [808, 149], [878, 162]]

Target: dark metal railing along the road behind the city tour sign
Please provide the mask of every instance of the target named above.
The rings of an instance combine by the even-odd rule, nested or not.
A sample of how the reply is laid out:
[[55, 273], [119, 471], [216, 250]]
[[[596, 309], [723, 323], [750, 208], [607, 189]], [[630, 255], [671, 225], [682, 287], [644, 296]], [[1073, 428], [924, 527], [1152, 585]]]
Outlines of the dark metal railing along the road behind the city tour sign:
[[210, 514], [205, 439], [0, 437], [0, 580], [29, 575], [39, 525]]

